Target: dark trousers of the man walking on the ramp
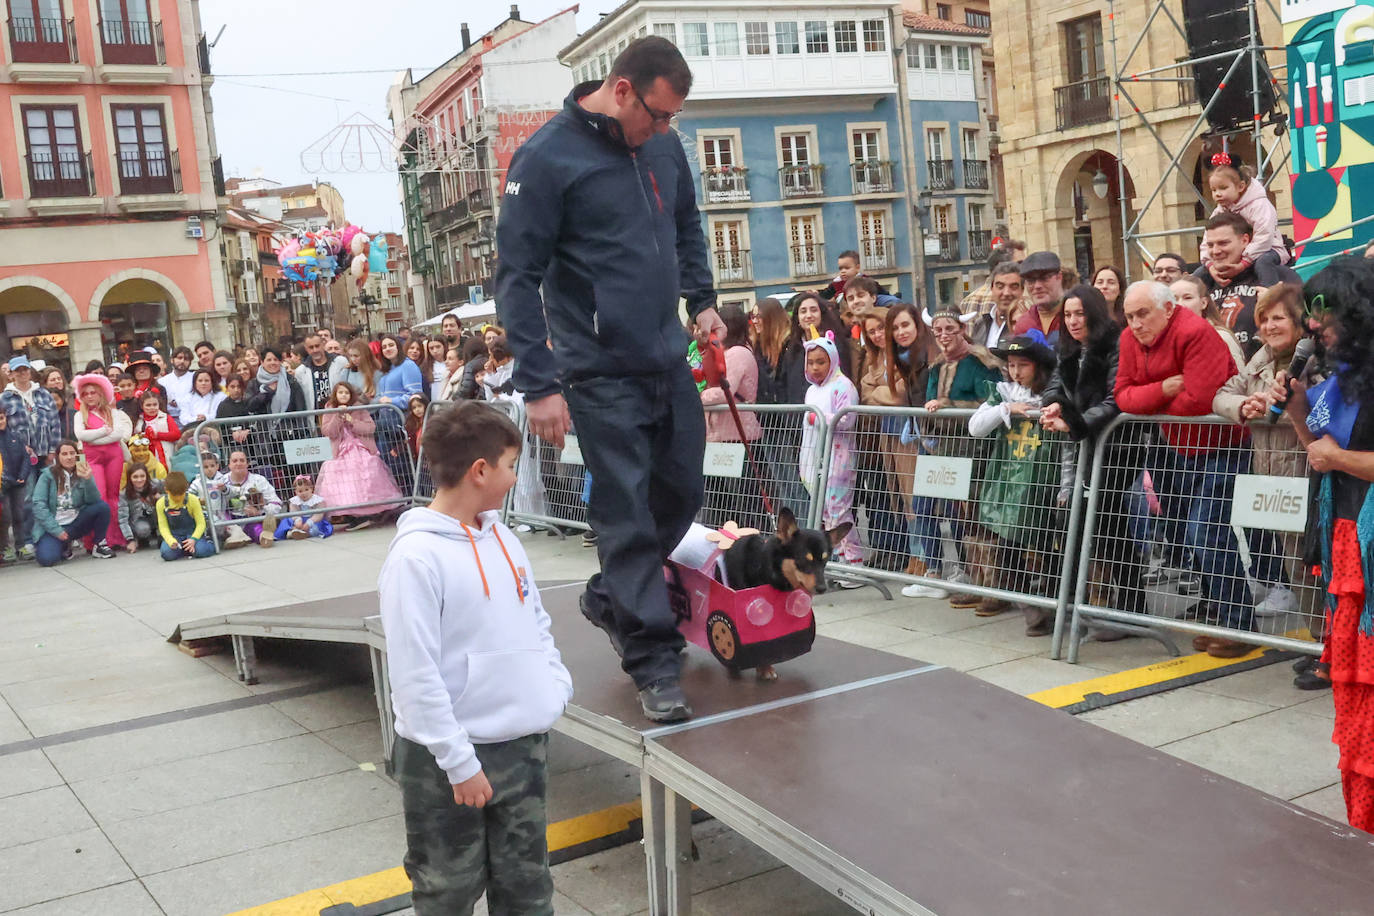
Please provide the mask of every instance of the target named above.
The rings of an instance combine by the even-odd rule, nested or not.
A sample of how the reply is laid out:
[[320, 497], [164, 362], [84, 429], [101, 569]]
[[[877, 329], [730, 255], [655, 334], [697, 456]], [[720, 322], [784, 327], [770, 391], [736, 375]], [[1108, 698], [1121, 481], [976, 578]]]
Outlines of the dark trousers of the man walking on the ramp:
[[701, 508], [706, 419], [683, 360], [651, 375], [578, 379], [563, 386], [592, 477], [588, 520], [600, 573], [588, 610], [624, 643], [621, 667], [639, 688], [677, 677], [683, 648], [668, 603], [664, 559]]

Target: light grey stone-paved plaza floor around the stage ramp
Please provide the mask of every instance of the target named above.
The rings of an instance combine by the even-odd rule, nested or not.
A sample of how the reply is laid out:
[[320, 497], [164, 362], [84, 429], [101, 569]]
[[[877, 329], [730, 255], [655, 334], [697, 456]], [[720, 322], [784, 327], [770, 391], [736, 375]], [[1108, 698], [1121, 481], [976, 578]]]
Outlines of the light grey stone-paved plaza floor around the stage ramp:
[[[394, 893], [400, 794], [381, 772], [365, 651], [264, 643], [260, 684], [247, 687], [231, 655], [196, 659], [168, 641], [184, 621], [371, 589], [392, 534], [0, 569], [0, 912], [313, 915], [341, 894]], [[595, 566], [576, 537], [522, 538], [541, 581]], [[1022, 695], [1165, 658], [1129, 639], [1088, 643], [1068, 665], [1022, 634], [1020, 615], [982, 619], [870, 588], [819, 599], [816, 618], [822, 634]], [[1292, 680], [1270, 665], [1081, 718], [1344, 821], [1330, 694]], [[639, 795], [632, 768], [561, 736], [551, 770], [551, 821], [595, 820]], [[1036, 791], [1013, 748], [1006, 773]], [[1091, 798], [1062, 802], [1091, 816]], [[695, 840], [698, 913], [853, 912], [719, 823], [698, 824]], [[644, 912], [638, 843], [559, 864], [554, 878], [558, 913]]]

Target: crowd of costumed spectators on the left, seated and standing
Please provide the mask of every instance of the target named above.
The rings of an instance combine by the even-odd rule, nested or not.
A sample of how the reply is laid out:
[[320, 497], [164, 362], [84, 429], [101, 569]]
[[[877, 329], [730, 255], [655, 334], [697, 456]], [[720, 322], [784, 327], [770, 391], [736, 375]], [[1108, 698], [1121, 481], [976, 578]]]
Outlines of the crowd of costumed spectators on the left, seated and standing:
[[[0, 566], [54, 566], [78, 542], [96, 559], [174, 560], [216, 540], [272, 547], [392, 520], [430, 401], [510, 397], [508, 364], [500, 328], [464, 335], [452, 316], [433, 338], [322, 328], [276, 345], [121, 347], [71, 376], [12, 356], [0, 364]], [[397, 409], [365, 409], [381, 404]], [[311, 437], [328, 439], [326, 460], [286, 460]]]

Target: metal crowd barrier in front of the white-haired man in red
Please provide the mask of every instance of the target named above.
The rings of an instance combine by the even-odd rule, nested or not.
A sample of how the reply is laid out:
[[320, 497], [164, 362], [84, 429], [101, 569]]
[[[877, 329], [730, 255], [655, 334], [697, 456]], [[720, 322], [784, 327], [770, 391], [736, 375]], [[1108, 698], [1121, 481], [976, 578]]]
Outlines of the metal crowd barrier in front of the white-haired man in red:
[[1123, 415], [1102, 434], [1069, 661], [1092, 622], [1320, 652], [1325, 611], [1303, 562], [1311, 494], [1297, 437], [1261, 420], [1249, 439], [1210, 448], [1242, 427], [1219, 416], [1162, 423], [1182, 448], [1161, 417]]

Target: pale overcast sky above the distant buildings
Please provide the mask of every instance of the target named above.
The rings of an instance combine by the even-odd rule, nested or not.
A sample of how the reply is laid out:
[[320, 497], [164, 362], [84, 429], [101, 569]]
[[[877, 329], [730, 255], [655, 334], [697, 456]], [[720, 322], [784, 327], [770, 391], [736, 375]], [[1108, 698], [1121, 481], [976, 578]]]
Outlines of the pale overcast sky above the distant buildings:
[[[518, 0], [521, 18], [537, 22], [572, 3]], [[583, 4], [584, 30], [618, 0]], [[404, 228], [394, 172], [327, 172], [301, 154], [345, 121], [374, 121], [374, 130], [352, 132], [364, 151], [386, 151], [386, 89], [396, 73], [411, 67], [416, 80], [460, 49], [459, 26], [469, 23], [475, 41], [510, 12], [510, 0], [201, 0], [201, 25], [213, 40], [212, 99], [214, 133], [224, 174], [276, 179], [283, 184], [328, 181], [344, 194], [345, 211], [368, 232]], [[339, 73], [378, 70], [378, 73]], [[306, 73], [309, 76], [275, 76]], [[570, 81], [570, 80], [569, 80]], [[337, 135], [341, 141], [342, 135]]]

